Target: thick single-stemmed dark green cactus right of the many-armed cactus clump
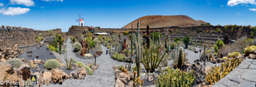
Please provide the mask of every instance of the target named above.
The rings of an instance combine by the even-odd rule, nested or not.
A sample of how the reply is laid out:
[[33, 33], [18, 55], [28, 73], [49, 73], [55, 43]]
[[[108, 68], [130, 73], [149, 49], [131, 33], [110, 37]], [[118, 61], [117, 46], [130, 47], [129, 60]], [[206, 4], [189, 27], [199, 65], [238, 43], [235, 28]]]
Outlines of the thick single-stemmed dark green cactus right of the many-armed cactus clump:
[[178, 48], [178, 63], [177, 67], [181, 69], [184, 62], [184, 49], [183, 47]]

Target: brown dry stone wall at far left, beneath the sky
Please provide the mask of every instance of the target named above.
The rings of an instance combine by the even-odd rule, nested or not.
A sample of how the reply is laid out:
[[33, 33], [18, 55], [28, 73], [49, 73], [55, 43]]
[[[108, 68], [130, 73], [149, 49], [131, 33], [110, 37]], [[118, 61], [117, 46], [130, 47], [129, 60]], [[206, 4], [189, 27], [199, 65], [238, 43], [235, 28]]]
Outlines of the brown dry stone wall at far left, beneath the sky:
[[[56, 33], [61, 33], [61, 29], [53, 30]], [[47, 33], [46, 30], [31, 30], [31, 29], [6, 29], [0, 28], [0, 47], [13, 47], [34, 45], [35, 36], [39, 33]]]

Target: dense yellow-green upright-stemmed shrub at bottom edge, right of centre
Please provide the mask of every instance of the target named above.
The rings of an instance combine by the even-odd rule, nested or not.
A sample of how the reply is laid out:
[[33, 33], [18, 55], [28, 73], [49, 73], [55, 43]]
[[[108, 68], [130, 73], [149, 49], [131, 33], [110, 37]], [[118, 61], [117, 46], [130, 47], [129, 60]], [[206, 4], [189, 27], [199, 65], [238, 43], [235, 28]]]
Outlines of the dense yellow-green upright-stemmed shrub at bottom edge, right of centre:
[[173, 68], [166, 69], [166, 72], [161, 72], [157, 79], [157, 87], [185, 87], [192, 86], [195, 76], [192, 72], [184, 72]]

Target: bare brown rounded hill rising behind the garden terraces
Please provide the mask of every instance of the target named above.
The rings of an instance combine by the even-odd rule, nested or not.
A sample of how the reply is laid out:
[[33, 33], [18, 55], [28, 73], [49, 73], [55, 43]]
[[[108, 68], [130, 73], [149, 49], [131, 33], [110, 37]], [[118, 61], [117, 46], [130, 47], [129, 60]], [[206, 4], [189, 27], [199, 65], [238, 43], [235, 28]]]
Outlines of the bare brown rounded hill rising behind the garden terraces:
[[156, 28], [167, 26], [192, 27], [200, 26], [202, 23], [206, 24], [203, 20], [194, 20], [187, 15], [149, 15], [140, 17], [125, 25], [123, 28], [132, 28], [132, 24], [133, 28], [137, 28], [138, 20], [140, 20], [140, 28], [146, 28], [146, 25], [149, 25], [150, 28]]

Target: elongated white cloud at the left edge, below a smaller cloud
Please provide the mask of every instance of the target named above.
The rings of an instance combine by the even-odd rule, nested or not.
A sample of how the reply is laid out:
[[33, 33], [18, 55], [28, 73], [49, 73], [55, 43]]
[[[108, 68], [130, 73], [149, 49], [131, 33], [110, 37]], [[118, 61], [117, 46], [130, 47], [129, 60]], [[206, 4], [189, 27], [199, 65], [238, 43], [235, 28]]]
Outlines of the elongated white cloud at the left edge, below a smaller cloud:
[[0, 13], [4, 15], [19, 15], [19, 14], [26, 14], [29, 12], [29, 8], [20, 8], [20, 7], [8, 7], [8, 9], [0, 9]]

